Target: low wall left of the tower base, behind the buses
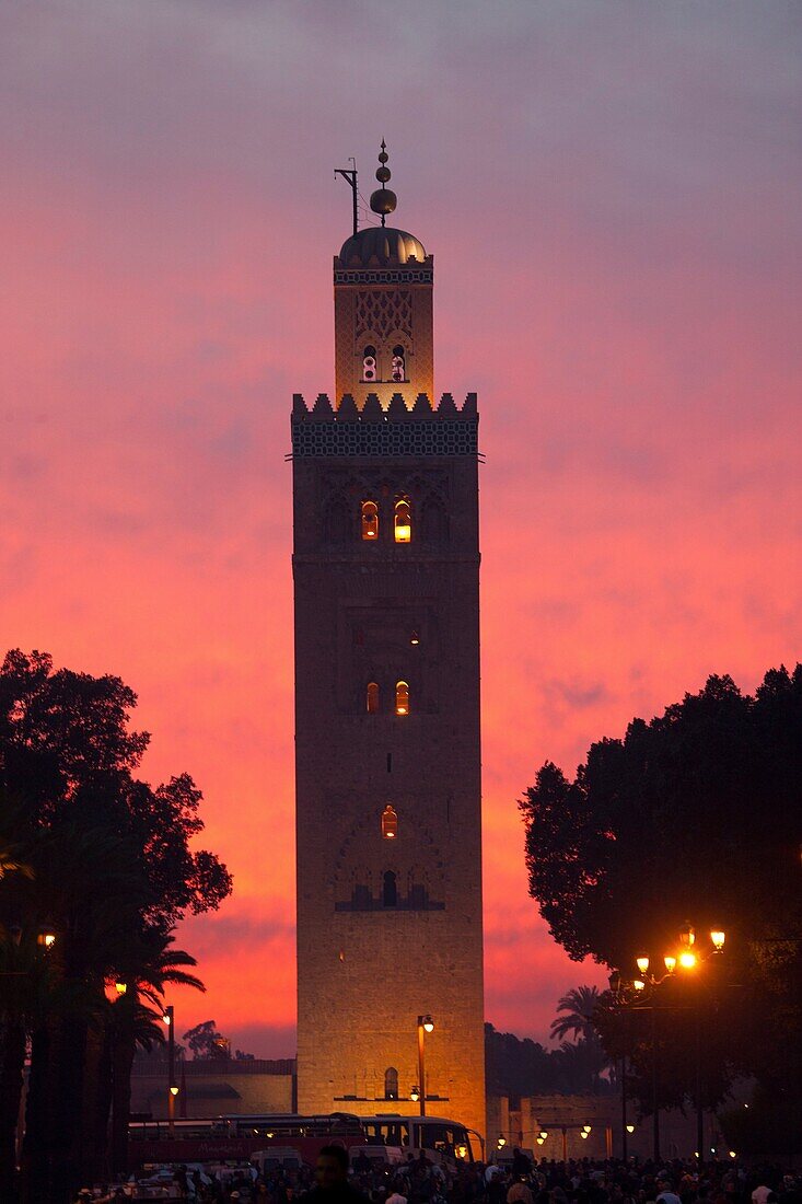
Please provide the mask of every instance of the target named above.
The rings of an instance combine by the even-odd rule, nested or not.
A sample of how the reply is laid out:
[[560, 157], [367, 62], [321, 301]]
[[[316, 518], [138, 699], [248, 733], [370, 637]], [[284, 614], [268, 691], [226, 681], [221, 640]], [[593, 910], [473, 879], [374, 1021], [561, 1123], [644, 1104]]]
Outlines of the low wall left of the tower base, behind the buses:
[[[176, 1080], [176, 1119], [295, 1111], [295, 1062], [290, 1058], [179, 1062]], [[155, 1120], [166, 1117], [166, 1066], [134, 1067], [131, 1112], [149, 1112]]]

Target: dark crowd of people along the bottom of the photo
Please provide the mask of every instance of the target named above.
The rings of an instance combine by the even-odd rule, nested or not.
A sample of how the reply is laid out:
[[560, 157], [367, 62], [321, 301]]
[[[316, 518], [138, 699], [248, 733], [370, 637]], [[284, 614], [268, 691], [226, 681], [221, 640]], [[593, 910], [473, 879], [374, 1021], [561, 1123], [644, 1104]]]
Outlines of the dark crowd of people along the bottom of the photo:
[[[195, 1204], [802, 1204], [802, 1175], [738, 1162], [662, 1164], [583, 1158], [532, 1162], [514, 1150], [512, 1159], [461, 1163], [455, 1168], [409, 1155], [391, 1165], [366, 1155], [349, 1162], [341, 1146], [325, 1146], [317, 1168], [255, 1167], [205, 1173], [181, 1168], [166, 1197]], [[85, 1194], [84, 1194], [85, 1192]], [[125, 1188], [98, 1197], [79, 1193], [77, 1204], [118, 1204]]]

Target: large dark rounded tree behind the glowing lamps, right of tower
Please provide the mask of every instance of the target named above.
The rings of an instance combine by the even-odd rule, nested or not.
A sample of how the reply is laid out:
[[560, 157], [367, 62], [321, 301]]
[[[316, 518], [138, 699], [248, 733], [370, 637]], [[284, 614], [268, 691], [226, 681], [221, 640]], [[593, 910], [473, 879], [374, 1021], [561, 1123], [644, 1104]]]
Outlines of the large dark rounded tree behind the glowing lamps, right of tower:
[[[754, 697], [710, 677], [623, 740], [592, 744], [573, 780], [547, 762], [520, 802], [530, 893], [572, 958], [635, 976], [635, 956], [661, 964], [688, 920], [729, 933], [715, 973], [661, 1015], [686, 1093], [690, 1013], [712, 1034], [707, 1096], [736, 1072], [791, 1096], [802, 1082], [801, 731], [802, 666], [771, 669]], [[614, 1027], [602, 1025], [611, 1054], [624, 1041]], [[636, 1072], [648, 1047], [630, 1037]]]

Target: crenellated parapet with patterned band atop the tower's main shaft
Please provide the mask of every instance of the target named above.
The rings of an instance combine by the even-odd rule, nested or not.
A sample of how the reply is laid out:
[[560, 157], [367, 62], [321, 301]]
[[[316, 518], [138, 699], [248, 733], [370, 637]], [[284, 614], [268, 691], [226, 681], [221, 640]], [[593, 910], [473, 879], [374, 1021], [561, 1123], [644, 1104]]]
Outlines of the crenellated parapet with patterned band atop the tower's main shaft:
[[476, 394], [461, 408], [450, 393], [437, 405], [420, 393], [412, 406], [393, 394], [387, 407], [368, 393], [359, 408], [350, 394], [332, 406], [325, 393], [309, 407], [293, 395], [293, 456], [477, 455], [479, 415]]

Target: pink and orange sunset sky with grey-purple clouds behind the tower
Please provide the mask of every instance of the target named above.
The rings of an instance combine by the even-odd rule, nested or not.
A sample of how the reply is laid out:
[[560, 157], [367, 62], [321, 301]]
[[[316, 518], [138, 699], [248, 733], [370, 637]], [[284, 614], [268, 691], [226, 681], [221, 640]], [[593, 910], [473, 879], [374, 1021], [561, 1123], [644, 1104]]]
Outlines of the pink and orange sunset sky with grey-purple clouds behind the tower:
[[[486, 1016], [568, 962], [515, 801], [802, 651], [798, 5], [0, 6], [0, 644], [119, 673], [235, 874], [179, 940], [236, 1045], [294, 1052], [289, 409], [331, 390], [332, 169], [436, 259], [479, 394]], [[667, 850], [667, 889], [670, 887]]]

